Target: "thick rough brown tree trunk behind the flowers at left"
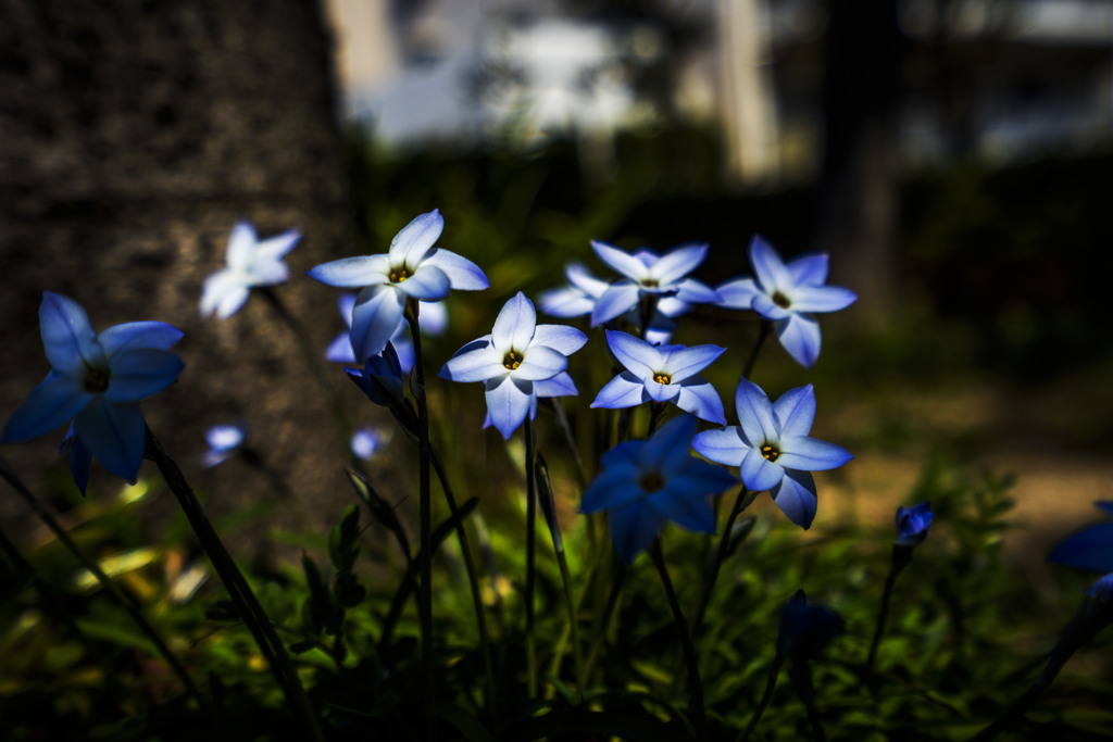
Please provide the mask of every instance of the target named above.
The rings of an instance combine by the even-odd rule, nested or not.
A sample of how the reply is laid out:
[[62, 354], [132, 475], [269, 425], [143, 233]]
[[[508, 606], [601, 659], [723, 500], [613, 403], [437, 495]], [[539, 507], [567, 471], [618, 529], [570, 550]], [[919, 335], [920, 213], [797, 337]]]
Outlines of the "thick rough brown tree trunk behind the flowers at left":
[[[264, 236], [304, 231], [277, 291], [314, 343], [338, 332], [335, 289], [304, 277], [356, 249], [329, 52], [306, 0], [0, 0], [0, 417], [48, 370], [45, 289], [81, 303], [98, 329], [168, 321], [186, 333], [187, 367], [144, 407], [195, 486], [213, 485], [210, 509], [274, 494], [235, 462], [199, 475], [205, 428], [242, 417], [305, 501], [286, 518], [335, 523], [351, 502], [346, 446], [290, 333], [258, 296], [227, 321], [197, 309], [247, 218]], [[45, 469], [66, 471], [63, 433], [0, 453], [43, 492]], [[117, 484], [95, 464], [95, 491]], [[0, 496], [3, 522], [26, 530], [24, 513]]]

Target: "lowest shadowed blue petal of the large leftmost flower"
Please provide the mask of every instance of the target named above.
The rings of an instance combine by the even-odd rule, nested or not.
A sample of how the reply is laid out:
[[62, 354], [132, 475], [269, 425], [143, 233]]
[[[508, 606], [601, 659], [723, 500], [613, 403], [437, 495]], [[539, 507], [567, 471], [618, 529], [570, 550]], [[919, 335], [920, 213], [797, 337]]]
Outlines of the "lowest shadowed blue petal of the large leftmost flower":
[[73, 429], [101, 466], [135, 484], [147, 446], [139, 403], [95, 398], [73, 419]]

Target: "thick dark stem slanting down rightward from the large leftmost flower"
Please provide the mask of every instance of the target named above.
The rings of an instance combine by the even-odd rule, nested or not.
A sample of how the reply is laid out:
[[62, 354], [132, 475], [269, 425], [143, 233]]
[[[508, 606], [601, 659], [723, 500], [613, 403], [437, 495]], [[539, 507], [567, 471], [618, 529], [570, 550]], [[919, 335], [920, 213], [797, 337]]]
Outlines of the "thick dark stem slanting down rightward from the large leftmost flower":
[[147, 428], [147, 451], [144, 455], [155, 462], [158, 471], [162, 473], [162, 478], [166, 479], [166, 485], [174, 493], [175, 497], [178, 498], [178, 504], [181, 506], [183, 512], [185, 512], [194, 533], [197, 534], [201, 548], [205, 550], [209, 562], [213, 563], [213, 568], [216, 570], [220, 582], [224, 583], [225, 590], [228, 591], [228, 596], [232, 598], [236, 613], [255, 637], [259, 651], [270, 666], [270, 673], [275, 676], [275, 681], [282, 689], [295, 715], [301, 718], [302, 723], [305, 724], [305, 730], [308, 732], [309, 739], [323, 741], [324, 733], [321, 731], [321, 724], [317, 722], [313, 705], [305, 694], [305, 689], [302, 687], [297, 672], [286, 655], [285, 645], [275, 633], [274, 626], [270, 625], [270, 620], [264, 612], [263, 606], [259, 605], [259, 601], [252, 591], [247, 580], [239, 571], [239, 567], [236, 566], [236, 562], [232, 558], [232, 555], [224, 547], [220, 537], [217, 536], [213, 524], [209, 523], [208, 516], [205, 515], [201, 504], [197, 501], [185, 476], [183, 476], [181, 469], [178, 468], [173, 458], [167, 456], [162, 449], [162, 444], [159, 443], [149, 427]]

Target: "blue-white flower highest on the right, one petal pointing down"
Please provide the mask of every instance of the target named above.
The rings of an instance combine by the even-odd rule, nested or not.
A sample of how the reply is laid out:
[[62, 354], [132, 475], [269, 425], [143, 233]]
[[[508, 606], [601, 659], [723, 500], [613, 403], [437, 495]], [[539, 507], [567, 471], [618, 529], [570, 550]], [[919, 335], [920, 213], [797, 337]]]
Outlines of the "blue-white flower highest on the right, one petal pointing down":
[[716, 287], [729, 309], [754, 309], [774, 323], [781, 346], [805, 368], [819, 357], [819, 321], [815, 315], [838, 311], [857, 300], [848, 288], [825, 286], [827, 256], [805, 255], [785, 264], [769, 243], [755, 235], [749, 248], [754, 278], [735, 278]]

